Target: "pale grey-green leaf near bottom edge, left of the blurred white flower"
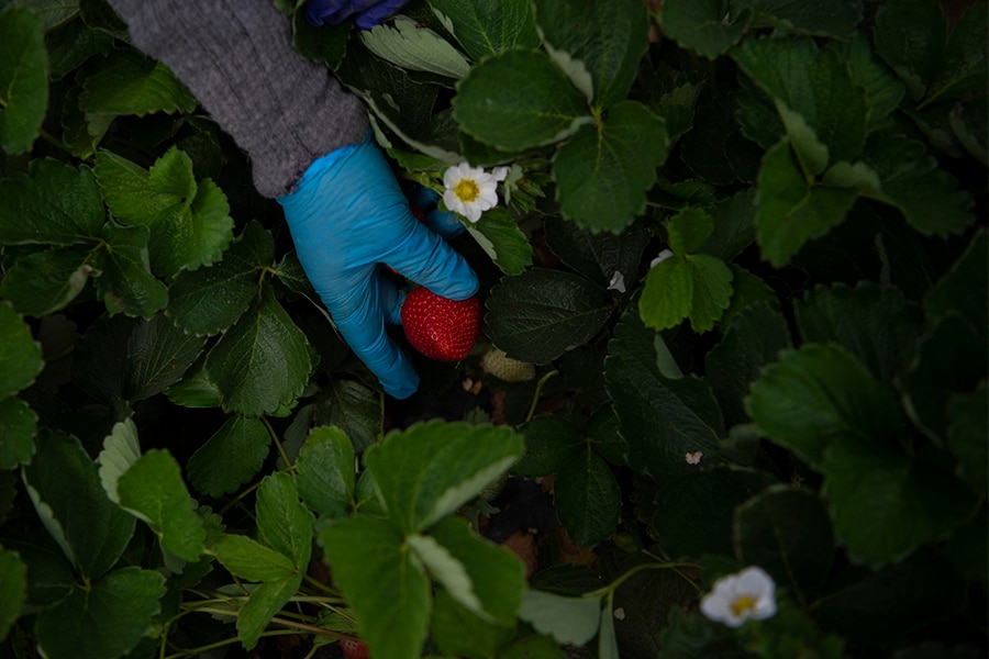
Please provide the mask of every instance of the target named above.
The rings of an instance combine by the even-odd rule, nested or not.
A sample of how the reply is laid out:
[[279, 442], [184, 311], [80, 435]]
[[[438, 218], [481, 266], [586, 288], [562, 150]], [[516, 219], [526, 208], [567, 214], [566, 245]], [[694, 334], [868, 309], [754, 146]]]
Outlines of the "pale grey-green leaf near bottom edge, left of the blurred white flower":
[[600, 597], [564, 597], [530, 589], [522, 595], [519, 617], [560, 644], [582, 646], [598, 633]]

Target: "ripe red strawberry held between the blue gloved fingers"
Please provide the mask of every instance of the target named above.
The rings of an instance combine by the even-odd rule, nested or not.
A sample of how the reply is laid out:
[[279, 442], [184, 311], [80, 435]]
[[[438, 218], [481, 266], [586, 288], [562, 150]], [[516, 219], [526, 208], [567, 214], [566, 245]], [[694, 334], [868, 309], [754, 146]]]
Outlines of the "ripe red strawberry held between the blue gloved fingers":
[[441, 298], [425, 287], [413, 289], [402, 303], [402, 326], [416, 350], [441, 361], [459, 361], [480, 334], [480, 301]]

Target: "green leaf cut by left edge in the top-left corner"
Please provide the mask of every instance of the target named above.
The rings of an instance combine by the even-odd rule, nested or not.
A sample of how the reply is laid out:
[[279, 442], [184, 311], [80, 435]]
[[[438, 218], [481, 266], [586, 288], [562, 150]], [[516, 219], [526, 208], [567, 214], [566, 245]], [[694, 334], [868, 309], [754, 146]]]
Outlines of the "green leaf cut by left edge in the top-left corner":
[[34, 12], [0, 11], [0, 147], [31, 150], [48, 108], [48, 52]]

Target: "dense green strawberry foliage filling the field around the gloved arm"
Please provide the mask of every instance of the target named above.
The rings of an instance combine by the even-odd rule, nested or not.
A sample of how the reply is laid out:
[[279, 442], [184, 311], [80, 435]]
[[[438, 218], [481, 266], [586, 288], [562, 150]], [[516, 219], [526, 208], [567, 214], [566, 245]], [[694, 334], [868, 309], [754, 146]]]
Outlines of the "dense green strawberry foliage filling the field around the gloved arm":
[[985, 1], [277, 4], [401, 180], [510, 167], [481, 342], [386, 400], [112, 10], [0, 2], [4, 657], [985, 656]]

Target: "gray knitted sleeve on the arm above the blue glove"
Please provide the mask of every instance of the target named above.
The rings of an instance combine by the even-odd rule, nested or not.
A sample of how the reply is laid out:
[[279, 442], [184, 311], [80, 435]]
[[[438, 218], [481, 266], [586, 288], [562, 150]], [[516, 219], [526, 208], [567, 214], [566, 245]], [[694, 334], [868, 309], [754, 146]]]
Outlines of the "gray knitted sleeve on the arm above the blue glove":
[[299, 57], [271, 0], [110, 0], [134, 45], [165, 63], [251, 157], [265, 197], [318, 157], [360, 142], [367, 109], [326, 67]]

